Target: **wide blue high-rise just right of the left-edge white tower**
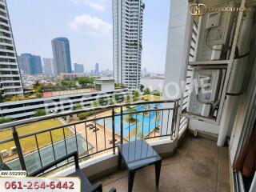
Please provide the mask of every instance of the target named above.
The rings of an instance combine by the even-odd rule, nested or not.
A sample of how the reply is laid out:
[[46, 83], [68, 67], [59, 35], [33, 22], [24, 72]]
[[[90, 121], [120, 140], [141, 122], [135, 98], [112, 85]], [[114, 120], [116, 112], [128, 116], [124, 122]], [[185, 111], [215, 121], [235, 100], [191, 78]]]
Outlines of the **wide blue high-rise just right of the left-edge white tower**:
[[23, 74], [42, 74], [42, 61], [38, 55], [21, 54], [18, 56], [18, 65]]

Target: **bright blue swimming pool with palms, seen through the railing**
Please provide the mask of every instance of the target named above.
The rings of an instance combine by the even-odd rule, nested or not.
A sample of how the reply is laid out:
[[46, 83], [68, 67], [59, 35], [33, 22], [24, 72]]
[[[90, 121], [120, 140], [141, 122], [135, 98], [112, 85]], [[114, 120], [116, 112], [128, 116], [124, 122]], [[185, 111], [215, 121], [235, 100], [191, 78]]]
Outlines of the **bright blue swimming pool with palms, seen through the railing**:
[[[158, 105], [159, 108], [160, 105]], [[150, 109], [154, 108], [155, 105], [150, 105]], [[146, 110], [143, 106], [136, 106], [136, 110], [137, 111], [142, 111], [142, 110]], [[123, 111], [123, 113], [127, 113], [126, 110]], [[133, 137], [130, 135], [130, 140], [133, 141], [135, 140], [136, 137], [142, 137], [142, 135], [144, 137], [146, 137], [148, 134], [150, 134], [150, 132], [152, 130], [154, 130], [154, 128], [156, 126], [161, 126], [161, 121], [162, 121], [162, 111], [151, 111], [148, 114], [143, 114], [139, 113], [134, 114], [134, 118], [137, 118], [138, 122], [136, 124], [136, 122], [134, 123], [129, 123], [128, 121], [126, 121], [126, 119], [128, 119], [129, 115], [123, 115], [123, 138], [129, 139], [129, 132], [132, 133], [133, 131], [135, 131], [136, 133], [136, 127], [137, 127], [137, 135], [134, 135]], [[98, 124], [100, 124], [101, 126], [104, 126], [104, 119], [100, 119], [97, 121]], [[105, 118], [105, 126], [107, 128], [112, 129], [112, 119], [111, 118]], [[120, 135], [121, 134], [121, 117], [120, 116], [116, 116], [114, 118], [114, 127], [115, 127], [115, 133]]]

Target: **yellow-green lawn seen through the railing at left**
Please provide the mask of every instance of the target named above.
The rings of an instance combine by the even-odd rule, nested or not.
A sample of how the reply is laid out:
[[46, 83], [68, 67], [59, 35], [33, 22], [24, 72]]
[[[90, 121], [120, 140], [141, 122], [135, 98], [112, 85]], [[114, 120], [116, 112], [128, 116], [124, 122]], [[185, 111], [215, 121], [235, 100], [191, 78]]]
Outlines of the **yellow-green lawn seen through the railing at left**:
[[[63, 125], [62, 122], [60, 122], [58, 119], [50, 119], [42, 122], [35, 122], [31, 124], [27, 124], [26, 126], [19, 126], [17, 128], [18, 135], [24, 135], [24, 134], [30, 134], [39, 130], [47, 130], [55, 126], [61, 126]], [[69, 137], [72, 135], [72, 131], [65, 127], [65, 136]], [[63, 135], [63, 130], [58, 129], [58, 130], [53, 130], [52, 131], [52, 136], [53, 136], [53, 142], [59, 141], [64, 138]], [[0, 131], [0, 141], [4, 140], [6, 138], [12, 138], [12, 130], [3, 130]], [[50, 142], [50, 132], [47, 131], [46, 133], [43, 134], [38, 134], [38, 146], [39, 148], [42, 148], [42, 146], [47, 146], [49, 145]], [[37, 150], [37, 144], [35, 140], [35, 136], [30, 136], [27, 138], [22, 138], [20, 139], [22, 148], [23, 148], [23, 154], [29, 153], [33, 150]], [[0, 145], [0, 150], [10, 150], [10, 147], [15, 146], [14, 142], [6, 142]]]

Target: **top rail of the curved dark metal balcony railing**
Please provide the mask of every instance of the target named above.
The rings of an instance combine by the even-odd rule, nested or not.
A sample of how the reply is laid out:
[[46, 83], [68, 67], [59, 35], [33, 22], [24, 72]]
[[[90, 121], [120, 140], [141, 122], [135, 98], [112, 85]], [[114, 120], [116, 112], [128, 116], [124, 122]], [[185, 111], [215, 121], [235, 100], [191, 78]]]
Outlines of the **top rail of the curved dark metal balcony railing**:
[[4, 130], [6, 128], [11, 128], [15, 126], [21, 126], [23, 124], [31, 123], [31, 122], [40, 122], [43, 120], [48, 120], [51, 118], [61, 118], [62, 116], [68, 116], [72, 114], [79, 114], [79, 113], [84, 113], [84, 112], [89, 112], [92, 110], [110, 110], [113, 107], [122, 107], [122, 106], [136, 106], [136, 105], [146, 105], [146, 104], [152, 104], [152, 103], [170, 103], [170, 102], [178, 102], [180, 98], [174, 99], [174, 100], [161, 100], [161, 101], [149, 101], [149, 102], [129, 102], [129, 103], [122, 103], [122, 104], [114, 104], [114, 105], [109, 105], [109, 106], [98, 106], [98, 107], [91, 107], [91, 108], [86, 108], [82, 110], [72, 110], [72, 111], [67, 111], [67, 112], [62, 112], [59, 114], [48, 114], [45, 116], [40, 116], [40, 117], [34, 117], [34, 118], [27, 118], [27, 119], [22, 119], [18, 120], [15, 122], [7, 122], [2, 125], [0, 125], [0, 130]]

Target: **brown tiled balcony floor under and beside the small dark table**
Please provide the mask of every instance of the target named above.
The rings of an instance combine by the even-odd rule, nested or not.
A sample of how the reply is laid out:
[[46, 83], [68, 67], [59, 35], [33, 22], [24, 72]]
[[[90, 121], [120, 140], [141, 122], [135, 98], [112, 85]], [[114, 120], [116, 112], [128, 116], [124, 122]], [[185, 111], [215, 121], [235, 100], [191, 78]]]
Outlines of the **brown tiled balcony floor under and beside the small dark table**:
[[[154, 166], [137, 171], [133, 191], [230, 191], [229, 158], [227, 148], [216, 142], [187, 135], [171, 158], [162, 162], [159, 190], [155, 189]], [[127, 191], [127, 172], [102, 178], [103, 191], [115, 187]]]

